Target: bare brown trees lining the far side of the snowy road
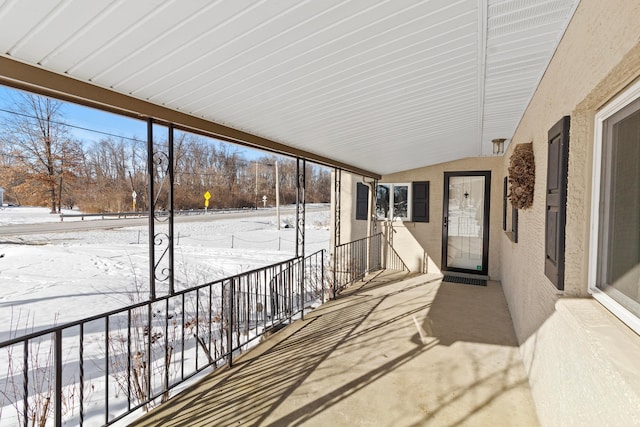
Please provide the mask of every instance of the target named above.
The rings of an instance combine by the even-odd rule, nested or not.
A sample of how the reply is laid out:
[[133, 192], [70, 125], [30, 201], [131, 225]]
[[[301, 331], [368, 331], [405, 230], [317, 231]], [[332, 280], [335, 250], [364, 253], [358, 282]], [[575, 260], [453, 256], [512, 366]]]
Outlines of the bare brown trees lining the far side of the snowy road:
[[[70, 126], [64, 122], [63, 106], [60, 101], [37, 95], [15, 97], [13, 114], [0, 123], [0, 185], [6, 194], [19, 203], [47, 204], [52, 213], [63, 206], [78, 206], [85, 212], [113, 212], [134, 208], [135, 191], [135, 209], [148, 209], [146, 143], [108, 137], [83, 145], [72, 138]], [[166, 154], [167, 143], [160, 138], [154, 146]], [[168, 206], [166, 191], [162, 191], [167, 186], [168, 158], [163, 159], [163, 163], [154, 162], [159, 208]], [[276, 187], [280, 189], [280, 203], [296, 201], [296, 161], [292, 159], [265, 155], [247, 161], [234, 145], [178, 132], [174, 138], [174, 168], [176, 209], [202, 208], [206, 192], [212, 195], [209, 208], [253, 206], [263, 195], [273, 204]], [[328, 202], [329, 171], [307, 164], [306, 176], [307, 201]]]

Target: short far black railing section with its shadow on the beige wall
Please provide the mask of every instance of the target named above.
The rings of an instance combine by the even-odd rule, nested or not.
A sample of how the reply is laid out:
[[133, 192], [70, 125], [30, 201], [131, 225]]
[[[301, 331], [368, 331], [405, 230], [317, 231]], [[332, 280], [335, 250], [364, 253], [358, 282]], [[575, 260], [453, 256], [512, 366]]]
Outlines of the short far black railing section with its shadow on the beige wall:
[[337, 245], [333, 255], [333, 295], [377, 270], [409, 271], [382, 233]]

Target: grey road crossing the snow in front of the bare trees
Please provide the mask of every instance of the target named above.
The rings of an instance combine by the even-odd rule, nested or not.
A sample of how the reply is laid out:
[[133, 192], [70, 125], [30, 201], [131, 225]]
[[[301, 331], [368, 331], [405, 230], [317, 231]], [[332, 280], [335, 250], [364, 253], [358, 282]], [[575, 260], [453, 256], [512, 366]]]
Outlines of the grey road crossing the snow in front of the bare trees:
[[[326, 206], [307, 206], [307, 212], [319, 212], [328, 210]], [[294, 215], [295, 207], [280, 208], [280, 215]], [[275, 209], [259, 209], [247, 211], [235, 211], [228, 213], [211, 213], [207, 215], [187, 215], [176, 216], [175, 223], [185, 222], [209, 222], [223, 219], [236, 219], [245, 217], [273, 217], [275, 219]], [[45, 222], [39, 224], [14, 224], [0, 227], [0, 236], [23, 236], [27, 234], [41, 233], [67, 233], [70, 231], [105, 230], [113, 228], [144, 226], [149, 223], [148, 218], [125, 218], [125, 219], [94, 219], [94, 220], [74, 220], [65, 222]]]

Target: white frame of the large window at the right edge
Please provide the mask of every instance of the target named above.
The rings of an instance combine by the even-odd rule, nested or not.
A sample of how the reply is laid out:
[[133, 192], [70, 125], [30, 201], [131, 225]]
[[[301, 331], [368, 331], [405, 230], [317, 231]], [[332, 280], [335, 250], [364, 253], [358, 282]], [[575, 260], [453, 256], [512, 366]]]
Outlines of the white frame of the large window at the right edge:
[[588, 270], [588, 291], [598, 302], [607, 308], [616, 317], [627, 324], [636, 333], [640, 334], [640, 317], [625, 308], [618, 301], [609, 296], [605, 291], [598, 288], [598, 267], [599, 267], [599, 238], [600, 238], [600, 197], [601, 186], [603, 185], [603, 149], [605, 139], [605, 121], [628, 105], [640, 99], [640, 81], [637, 81], [623, 93], [613, 98], [595, 115], [594, 143], [593, 143], [593, 166], [591, 171], [591, 219], [590, 219], [590, 241], [589, 241], [589, 270]]

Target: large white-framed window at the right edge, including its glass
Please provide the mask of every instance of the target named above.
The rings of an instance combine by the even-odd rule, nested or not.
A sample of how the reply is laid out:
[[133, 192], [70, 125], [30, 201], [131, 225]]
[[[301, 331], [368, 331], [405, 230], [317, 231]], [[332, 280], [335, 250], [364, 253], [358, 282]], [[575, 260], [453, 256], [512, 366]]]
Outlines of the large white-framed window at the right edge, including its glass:
[[596, 116], [589, 283], [640, 333], [640, 83]]

